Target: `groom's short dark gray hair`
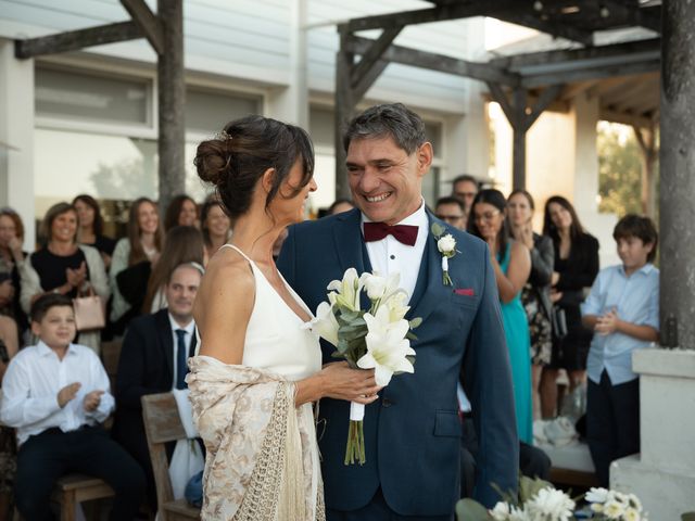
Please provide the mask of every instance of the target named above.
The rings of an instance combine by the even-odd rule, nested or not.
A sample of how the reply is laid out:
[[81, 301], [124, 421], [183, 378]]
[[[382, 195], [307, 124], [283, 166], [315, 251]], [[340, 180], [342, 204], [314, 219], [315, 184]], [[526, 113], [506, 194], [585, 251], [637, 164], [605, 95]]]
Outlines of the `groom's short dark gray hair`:
[[345, 151], [353, 139], [392, 138], [408, 155], [425, 141], [425, 123], [403, 103], [374, 105], [348, 125], [343, 136]]

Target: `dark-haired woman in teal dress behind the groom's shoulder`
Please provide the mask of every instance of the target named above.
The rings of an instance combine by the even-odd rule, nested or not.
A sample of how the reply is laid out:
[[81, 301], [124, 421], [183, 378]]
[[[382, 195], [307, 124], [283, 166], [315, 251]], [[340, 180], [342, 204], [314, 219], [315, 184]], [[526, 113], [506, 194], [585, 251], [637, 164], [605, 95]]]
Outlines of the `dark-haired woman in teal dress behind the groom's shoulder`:
[[531, 402], [531, 336], [529, 322], [521, 304], [521, 290], [531, 272], [528, 247], [509, 240], [506, 200], [498, 190], [481, 190], [473, 200], [468, 218], [468, 231], [490, 246], [492, 266], [500, 291], [502, 321], [509, 350], [514, 402], [519, 440], [533, 443], [533, 406]]

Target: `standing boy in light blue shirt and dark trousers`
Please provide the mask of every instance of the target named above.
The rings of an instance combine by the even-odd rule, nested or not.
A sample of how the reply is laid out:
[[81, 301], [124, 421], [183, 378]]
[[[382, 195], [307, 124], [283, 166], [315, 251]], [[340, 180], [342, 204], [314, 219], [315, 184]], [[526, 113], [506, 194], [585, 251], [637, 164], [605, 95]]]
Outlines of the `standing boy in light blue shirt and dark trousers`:
[[612, 237], [622, 264], [601, 270], [582, 305], [582, 321], [594, 331], [586, 360], [586, 437], [605, 487], [610, 462], [640, 452], [640, 380], [632, 372], [632, 352], [659, 336], [654, 223], [627, 215]]

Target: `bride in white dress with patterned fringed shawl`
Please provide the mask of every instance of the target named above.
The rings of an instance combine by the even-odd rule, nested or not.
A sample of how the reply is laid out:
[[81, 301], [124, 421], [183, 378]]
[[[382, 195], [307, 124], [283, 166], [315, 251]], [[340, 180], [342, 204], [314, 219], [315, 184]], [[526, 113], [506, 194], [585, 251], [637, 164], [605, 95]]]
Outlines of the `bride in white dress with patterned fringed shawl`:
[[201, 347], [189, 360], [193, 417], [207, 456], [202, 519], [325, 519], [312, 403], [369, 404], [374, 371], [321, 368], [311, 310], [278, 272], [273, 244], [316, 190], [306, 132], [262, 116], [203, 141], [198, 175], [235, 223], [195, 298]]

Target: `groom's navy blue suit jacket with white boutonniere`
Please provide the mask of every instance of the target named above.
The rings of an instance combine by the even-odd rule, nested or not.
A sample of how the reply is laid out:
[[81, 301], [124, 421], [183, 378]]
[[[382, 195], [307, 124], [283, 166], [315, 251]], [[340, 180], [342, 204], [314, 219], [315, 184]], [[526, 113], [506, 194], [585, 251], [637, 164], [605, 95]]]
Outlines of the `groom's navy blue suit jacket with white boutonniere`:
[[[278, 267], [311, 309], [326, 300], [326, 287], [345, 269], [371, 270], [359, 215], [354, 209], [290, 228]], [[428, 217], [454, 236], [462, 252], [448, 263], [454, 287], [443, 284], [441, 255], [430, 230], [420, 230], [431, 240], [406, 317], [422, 318], [412, 344], [415, 373], [394, 377], [366, 407], [364, 466], [343, 463], [349, 403], [327, 398], [320, 404], [317, 433], [328, 508], [362, 508], [381, 487], [389, 507], [400, 514], [453, 513], [459, 495], [456, 382], [462, 363], [480, 440], [476, 497], [491, 507], [497, 500], [491, 484], [516, 491], [519, 443], [511, 373], [490, 253], [483, 241]], [[334, 361], [332, 351], [324, 345], [324, 361]]]

